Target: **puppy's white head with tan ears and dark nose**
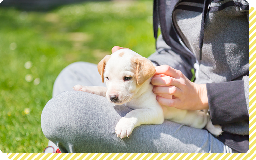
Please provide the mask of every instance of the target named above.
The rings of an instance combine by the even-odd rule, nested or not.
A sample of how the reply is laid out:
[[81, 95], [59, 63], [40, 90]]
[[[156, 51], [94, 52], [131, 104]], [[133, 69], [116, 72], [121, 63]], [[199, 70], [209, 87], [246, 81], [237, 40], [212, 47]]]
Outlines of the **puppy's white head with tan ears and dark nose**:
[[122, 105], [131, 101], [143, 84], [155, 74], [152, 62], [136, 52], [120, 49], [106, 55], [98, 64], [102, 82], [106, 81], [109, 102]]

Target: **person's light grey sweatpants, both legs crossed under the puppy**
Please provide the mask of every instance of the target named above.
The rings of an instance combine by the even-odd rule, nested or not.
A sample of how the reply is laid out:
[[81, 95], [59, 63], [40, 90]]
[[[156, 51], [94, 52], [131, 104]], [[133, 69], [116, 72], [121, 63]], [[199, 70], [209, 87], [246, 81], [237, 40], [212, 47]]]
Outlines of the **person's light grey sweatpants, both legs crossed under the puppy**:
[[70, 64], [53, 87], [53, 98], [41, 115], [44, 135], [62, 153], [232, 153], [207, 130], [165, 121], [136, 127], [129, 138], [116, 137], [115, 125], [130, 108], [105, 97], [72, 91], [76, 84], [104, 86], [97, 65]]

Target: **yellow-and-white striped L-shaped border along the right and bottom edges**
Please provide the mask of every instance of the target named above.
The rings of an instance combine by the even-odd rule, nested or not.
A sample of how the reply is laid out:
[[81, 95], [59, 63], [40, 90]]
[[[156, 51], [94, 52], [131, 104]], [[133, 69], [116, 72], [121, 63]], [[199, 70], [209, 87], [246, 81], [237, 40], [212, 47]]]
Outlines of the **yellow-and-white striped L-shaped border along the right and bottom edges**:
[[256, 159], [256, 7], [250, 7], [250, 149], [245, 154], [7, 154], [7, 160], [254, 160]]

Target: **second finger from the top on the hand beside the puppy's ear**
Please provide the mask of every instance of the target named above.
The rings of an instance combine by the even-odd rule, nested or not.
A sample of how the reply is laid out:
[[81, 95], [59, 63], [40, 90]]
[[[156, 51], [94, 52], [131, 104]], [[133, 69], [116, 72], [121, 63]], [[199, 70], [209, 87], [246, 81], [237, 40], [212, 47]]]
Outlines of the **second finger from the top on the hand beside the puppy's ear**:
[[164, 85], [164, 86], [171, 86], [174, 85], [176, 87], [179, 87], [179, 81], [175, 78], [164, 76], [164, 77], [155, 77], [151, 79], [152, 85]]

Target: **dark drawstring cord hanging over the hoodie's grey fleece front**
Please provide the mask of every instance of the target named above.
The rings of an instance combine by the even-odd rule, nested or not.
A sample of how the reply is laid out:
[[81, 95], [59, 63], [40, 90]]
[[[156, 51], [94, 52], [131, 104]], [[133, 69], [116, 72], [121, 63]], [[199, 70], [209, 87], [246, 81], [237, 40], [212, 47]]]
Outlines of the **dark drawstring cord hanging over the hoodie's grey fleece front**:
[[203, 48], [203, 37], [204, 37], [204, 23], [206, 19], [206, 15], [208, 12], [208, 6], [211, 0], [204, 0], [203, 5], [203, 13], [202, 13], [202, 23], [201, 23], [201, 30], [199, 36], [199, 59], [202, 60], [202, 48]]

